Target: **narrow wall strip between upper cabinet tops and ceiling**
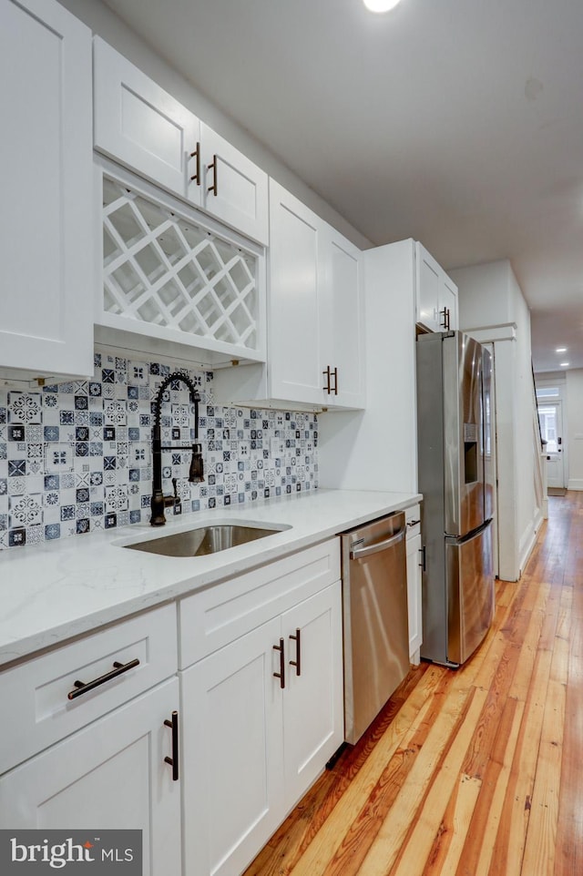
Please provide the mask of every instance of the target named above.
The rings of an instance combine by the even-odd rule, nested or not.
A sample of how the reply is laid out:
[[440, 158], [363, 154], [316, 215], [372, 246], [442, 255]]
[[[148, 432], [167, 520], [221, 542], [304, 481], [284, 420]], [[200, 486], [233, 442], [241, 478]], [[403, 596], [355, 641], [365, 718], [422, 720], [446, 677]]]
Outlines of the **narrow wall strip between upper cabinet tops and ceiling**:
[[[138, 66], [159, 85], [165, 88], [180, 103], [199, 116], [222, 137], [228, 139], [233, 146], [240, 149], [267, 173], [277, 179], [284, 188], [289, 189], [304, 204], [315, 213], [338, 229], [353, 243], [366, 249], [371, 241], [354, 229], [342, 216], [322, 200], [312, 188], [286, 167], [269, 148], [262, 145], [252, 134], [240, 127], [232, 118], [215, 107], [207, 97], [166, 63], [155, 51], [137, 36], [118, 15], [115, 15], [101, 0], [59, 0], [73, 15], [90, 27], [94, 34], [103, 37]], [[159, 0], [163, 2], [163, 0]]]

